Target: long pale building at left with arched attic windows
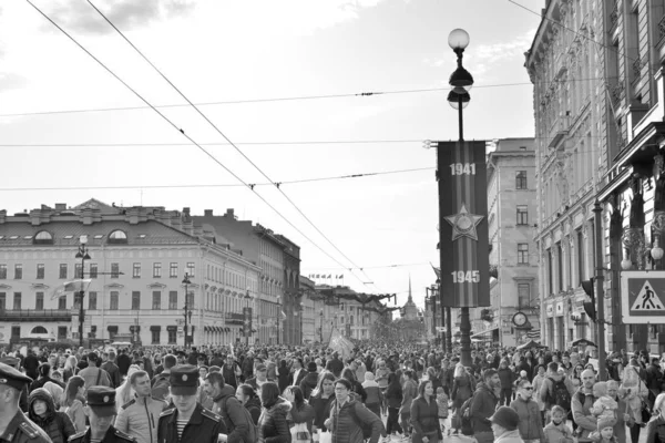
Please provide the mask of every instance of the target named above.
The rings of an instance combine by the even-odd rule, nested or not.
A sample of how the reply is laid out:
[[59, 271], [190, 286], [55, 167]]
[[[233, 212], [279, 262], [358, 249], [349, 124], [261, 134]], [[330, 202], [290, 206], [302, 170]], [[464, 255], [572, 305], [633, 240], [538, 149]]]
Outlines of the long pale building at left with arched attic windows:
[[[89, 259], [75, 258], [81, 236]], [[185, 301], [185, 274], [190, 284]], [[79, 309], [66, 285], [83, 289], [84, 337], [130, 336], [144, 346], [242, 339], [246, 288], [260, 268], [194, 225], [187, 208], [120, 208], [91, 199], [74, 208], [0, 212], [0, 342], [78, 340]], [[239, 318], [237, 319], [239, 320]]]

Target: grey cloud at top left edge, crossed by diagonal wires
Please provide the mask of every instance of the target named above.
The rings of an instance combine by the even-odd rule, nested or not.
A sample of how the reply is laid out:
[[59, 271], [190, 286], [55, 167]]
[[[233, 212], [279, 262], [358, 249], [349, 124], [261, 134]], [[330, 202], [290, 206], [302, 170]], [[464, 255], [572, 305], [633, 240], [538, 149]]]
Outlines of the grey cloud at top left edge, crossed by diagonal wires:
[[[116, 0], [93, 1], [93, 4], [120, 30], [142, 28], [155, 20], [190, 14], [195, 4], [190, 0]], [[58, 1], [44, 12], [68, 30], [89, 34], [114, 32], [106, 21], [85, 1]]]

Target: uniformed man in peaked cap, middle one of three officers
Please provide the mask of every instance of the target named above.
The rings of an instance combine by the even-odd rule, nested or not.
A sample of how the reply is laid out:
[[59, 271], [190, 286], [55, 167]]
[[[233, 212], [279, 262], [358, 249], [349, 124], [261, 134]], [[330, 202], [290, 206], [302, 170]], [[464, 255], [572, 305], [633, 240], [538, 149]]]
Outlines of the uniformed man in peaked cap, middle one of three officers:
[[136, 443], [136, 440], [113, 427], [115, 419], [115, 390], [109, 387], [90, 387], [85, 391], [88, 431], [70, 436], [69, 443]]

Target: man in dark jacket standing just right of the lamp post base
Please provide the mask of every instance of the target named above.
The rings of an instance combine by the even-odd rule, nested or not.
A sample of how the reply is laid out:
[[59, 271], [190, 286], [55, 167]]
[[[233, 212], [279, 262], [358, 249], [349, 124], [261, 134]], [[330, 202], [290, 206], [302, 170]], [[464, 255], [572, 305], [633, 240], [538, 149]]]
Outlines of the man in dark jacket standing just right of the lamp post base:
[[473, 427], [473, 435], [478, 443], [491, 443], [494, 441], [492, 433], [492, 423], [490, 416], [497, 409], [499, 396], [497, 392], [501, 388], [501, 379], [494, 369], [488, 369], [483, 374], [483, 382], [478, 383], [478, 388], [471, 399], [469, 416]]

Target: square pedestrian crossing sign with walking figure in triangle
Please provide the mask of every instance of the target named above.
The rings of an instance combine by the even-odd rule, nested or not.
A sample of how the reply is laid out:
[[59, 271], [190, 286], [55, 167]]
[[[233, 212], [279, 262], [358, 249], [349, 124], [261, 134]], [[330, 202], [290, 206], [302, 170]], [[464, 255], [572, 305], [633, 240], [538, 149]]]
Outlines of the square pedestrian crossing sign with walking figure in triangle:
[[622, 271], [621, 300], [624, 323], [663, 323], [665, 321], [665, 271]]

